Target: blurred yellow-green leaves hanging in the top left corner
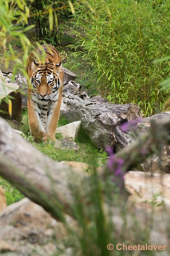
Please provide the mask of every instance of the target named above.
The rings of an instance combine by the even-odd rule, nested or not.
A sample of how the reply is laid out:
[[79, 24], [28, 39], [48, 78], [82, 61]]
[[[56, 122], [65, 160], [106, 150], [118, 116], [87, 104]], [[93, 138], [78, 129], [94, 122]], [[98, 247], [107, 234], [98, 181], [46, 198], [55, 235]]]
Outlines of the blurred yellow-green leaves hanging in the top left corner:
[[[8, 68], [9, 61], [14, 61], [15, 63], [13, 78], [19, 65], [26, 66], [28, 48], [31, 43], [26, 37], [25, 32], [34, 27], [34, 25], [24, 27], [28, 23], [28, 17], [29, 8], [24, 0], [0, 1], [0, 45], [3, 48], [5, 67]], [[23, 60], [20, 60], [18, 53], [12, 47], [11, 39], [14, 41], [17, 38], [19, 38], [23, 48]], [[22, 72], [27, 76], [24, 68], [22, 68]]]

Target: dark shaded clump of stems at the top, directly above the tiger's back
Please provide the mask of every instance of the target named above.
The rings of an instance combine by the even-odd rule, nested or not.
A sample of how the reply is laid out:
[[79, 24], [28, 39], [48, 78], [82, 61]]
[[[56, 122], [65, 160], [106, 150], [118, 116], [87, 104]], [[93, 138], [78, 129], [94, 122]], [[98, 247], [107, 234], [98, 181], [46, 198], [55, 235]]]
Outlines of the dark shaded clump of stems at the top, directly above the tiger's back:
[[30, 22], [35, 23], [35, 40], [59, 45], [61, 43], [61, 35], [63, 35], [61, 19], [68, 14], [68, 1], [27, 0], [26, 2], [31, 13]]

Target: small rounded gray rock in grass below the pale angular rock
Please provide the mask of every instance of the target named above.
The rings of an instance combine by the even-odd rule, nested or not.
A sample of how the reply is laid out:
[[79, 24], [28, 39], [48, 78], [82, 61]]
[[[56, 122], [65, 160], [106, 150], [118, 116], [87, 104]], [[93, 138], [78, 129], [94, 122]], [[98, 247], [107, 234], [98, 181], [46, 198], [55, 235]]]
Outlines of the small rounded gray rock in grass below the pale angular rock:
[[54, 143], [54, 148], [58, 150], [74, 150], [74, 151], [78, 151], [80, 149], [79, 145], [77, 145], [69, 137], [56, 140]]

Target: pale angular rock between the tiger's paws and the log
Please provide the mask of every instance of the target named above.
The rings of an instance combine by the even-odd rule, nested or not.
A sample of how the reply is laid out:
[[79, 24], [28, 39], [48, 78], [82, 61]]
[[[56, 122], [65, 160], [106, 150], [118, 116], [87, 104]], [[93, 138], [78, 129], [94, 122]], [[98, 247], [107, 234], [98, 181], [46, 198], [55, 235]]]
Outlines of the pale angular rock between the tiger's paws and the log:
[[81, 121], [72, 122], [68, 125], [63, 125], [58, 127], [55, 133], [61, 133], [63, 137], [72, 137], [72, 140], [75, 141], [75, 138], [78, 136], [78, 131], [81, 127]]

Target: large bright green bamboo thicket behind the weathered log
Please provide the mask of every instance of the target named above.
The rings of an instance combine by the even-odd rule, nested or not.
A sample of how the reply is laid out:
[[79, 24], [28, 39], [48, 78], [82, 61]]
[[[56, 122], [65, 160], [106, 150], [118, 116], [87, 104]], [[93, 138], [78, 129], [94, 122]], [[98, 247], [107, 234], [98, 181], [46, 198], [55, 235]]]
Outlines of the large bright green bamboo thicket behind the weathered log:
[[98, 89], [112, 103], [135, 103], [147, 116], [161, 109], [169, 76], [170, 2], [88, 0], [75, 6], [78, 54], [91, 63]]

